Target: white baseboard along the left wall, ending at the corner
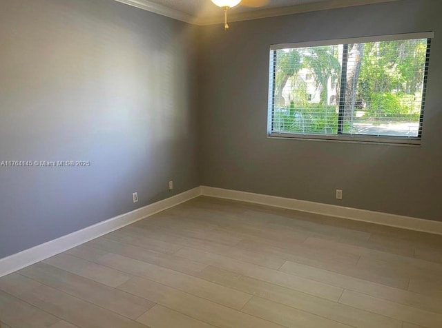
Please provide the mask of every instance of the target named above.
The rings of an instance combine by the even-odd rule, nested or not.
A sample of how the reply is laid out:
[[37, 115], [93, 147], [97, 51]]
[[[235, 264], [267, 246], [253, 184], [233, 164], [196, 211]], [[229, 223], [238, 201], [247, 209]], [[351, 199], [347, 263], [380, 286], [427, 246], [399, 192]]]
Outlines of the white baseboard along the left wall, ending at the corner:
[[106, 221], [91, 225], [90, 227], [73, 232], [72, 234], [26, 249], [23, 252], [13, 254], [6, 258], [1, 258], [0, 277], [6, 276], [6, 274], [10, 274], [19, 269], [23, 269], [23, 267], [28, 267], [28, 265], [32, 265], [46, 258], [50, 258], [50, 256], [65, 252], [72, 247], [86, 243], [89, 240], [113, 232], [116, 229], [130, 225], [136, 221], [140, 221], [155, 213], [162, 212], [164, 209], [189, 201], [192, 198], [200, 196], [200, 194], [200, 187], [196, 187], [151, 205], [135, 209], [132, 212], [115, 216], [115, 218], [110, 218]]

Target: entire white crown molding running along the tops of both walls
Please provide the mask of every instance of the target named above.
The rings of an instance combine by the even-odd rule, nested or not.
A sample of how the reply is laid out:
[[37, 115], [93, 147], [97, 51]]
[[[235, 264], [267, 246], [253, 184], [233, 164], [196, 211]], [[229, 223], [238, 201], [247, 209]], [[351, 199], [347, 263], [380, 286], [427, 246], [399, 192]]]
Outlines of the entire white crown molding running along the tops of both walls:
[[[153, 3], [149, 0], [115, 0], [126, 5], [147, 10], [149, 12], [155, 12], [162, 16], [184, 21], [195, 25], [213, 25], [223, 22], [224, 15], [220, 11], [220, 14], [213, 17], [195, 17], [191, 14], [186, 14], [179, 10], [175, 10], [166, 6], [162, 6], [158, 3]], [[207, 0], [209, 1], [209, 0]], [[250, 12], [238, 12], [231, 10], [229, 14], [229, 21], [249, 21], [251, 19], [261, 19], [267, 17], [286, 16], [290, 14], [300, 14], [302, 12], [314, 12], [318, 10], [331, 10], [337, 8], [363, 6], [374, 3], [392, 2], [401, 0], [323, 0], [314, 3], [303, 3], [295, 6], [287, 6], [280, 8], [267, 8], [262, 10], [253, 10]]]

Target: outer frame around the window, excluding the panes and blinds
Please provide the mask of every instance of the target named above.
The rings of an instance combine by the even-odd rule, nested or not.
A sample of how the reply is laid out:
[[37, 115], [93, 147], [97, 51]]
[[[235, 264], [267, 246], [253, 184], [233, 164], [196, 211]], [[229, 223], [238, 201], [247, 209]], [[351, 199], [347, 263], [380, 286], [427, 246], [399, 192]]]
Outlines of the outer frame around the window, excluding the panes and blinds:
[[[416, 32], [405, 34], [390, 34], [373, 37], [359, 37], [349, 39], [332, 39], [321, 41], [309, 41], [300, 43], [280, 43], [270, 46], [269, 56], [269, 103], [268, 103], [268, 121], [267, 121], [267, 136], [269, 138], [277, 139], [307, 139], [314, 141], [341, 141], [341, 142], [362, 142], [362, 143], [386, 143], [391, 145], [420, 145], [422, 138], [422, 123], [424, 109], [421, 110], [421, 119], [419, 122], [419, 135], [413, 136], [369, 136], [364, 134], [302, 134], [295, 132], [273, 132], [273, 75], [274, 75], [274, 58], [273, 52], [275, 50], [289, 49], [289, 48], [308, 48], [318, 47], [325, 45], [337, 45], [337, 44], [351, 44], [351, 43], [369, 43], [369, 42], [381, 42], [381, 41], [398, 41], [407, 39], [433, 39], [434, 32]], [[426, 96], [427, 86], [427, 74], [428, 74], [428, 61], [425, 63], [425, 76], [424, 76], [424, 88], [423, 88], [423, 101]], [[423, 105], [424, 106], [424, 105]]]

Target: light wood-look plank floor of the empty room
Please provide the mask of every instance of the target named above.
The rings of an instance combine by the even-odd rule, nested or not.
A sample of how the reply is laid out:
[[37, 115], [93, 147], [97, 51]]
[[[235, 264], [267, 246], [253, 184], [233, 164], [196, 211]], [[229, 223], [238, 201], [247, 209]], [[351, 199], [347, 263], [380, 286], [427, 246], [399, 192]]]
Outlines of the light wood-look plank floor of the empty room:
[[442, 236], [200, 197], [0, 278], [0, 320], [441, 328]]

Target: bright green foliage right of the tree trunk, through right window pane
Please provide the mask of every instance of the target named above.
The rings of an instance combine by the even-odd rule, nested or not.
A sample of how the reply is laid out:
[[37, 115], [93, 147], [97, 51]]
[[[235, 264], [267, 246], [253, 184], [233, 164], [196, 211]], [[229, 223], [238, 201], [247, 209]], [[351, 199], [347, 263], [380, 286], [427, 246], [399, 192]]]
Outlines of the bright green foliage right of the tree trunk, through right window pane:
[[358, 99], [372, 119], [419, 120], [425, 39], [366, 43]]

